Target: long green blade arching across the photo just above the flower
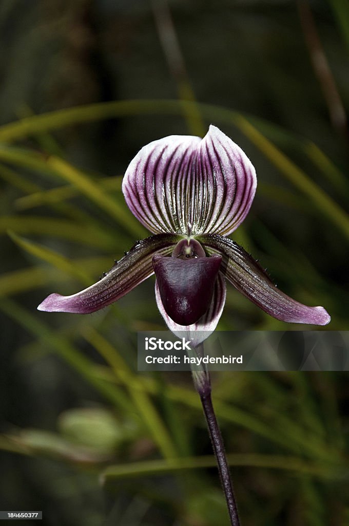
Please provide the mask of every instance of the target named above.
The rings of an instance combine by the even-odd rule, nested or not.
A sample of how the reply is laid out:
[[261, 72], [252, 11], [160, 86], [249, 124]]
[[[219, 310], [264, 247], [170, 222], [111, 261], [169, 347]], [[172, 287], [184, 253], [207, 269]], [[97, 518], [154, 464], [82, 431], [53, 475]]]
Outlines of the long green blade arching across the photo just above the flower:
[[[99, 103], [77, 108], [58, 110], [57, 112], [27, 117], [16, 123], [0, 127], [0, 140], [14, 141], [45, 130], [58, 129], [77, 123], [91, 122], [111, 117], [130, 115], [182, 115], [183, 109], [190, 108], [189, 101], [178, 100], [121, 100]], [[199, 105], [204, 118], [213, 122], [221, 121], [237, 126], [262, 153], [278, 167], [291, 183], [310, 197], [313, 203], [326, 215], [346, 237], [349, 237], [349, 218], [333, 199], [317, 186], [299, 167], [266, 139], [242, 115], [207, 104]], [[0, 149], [0, 158], [2, 150]], [[8, 155], [8, 152], [7, 152]]]

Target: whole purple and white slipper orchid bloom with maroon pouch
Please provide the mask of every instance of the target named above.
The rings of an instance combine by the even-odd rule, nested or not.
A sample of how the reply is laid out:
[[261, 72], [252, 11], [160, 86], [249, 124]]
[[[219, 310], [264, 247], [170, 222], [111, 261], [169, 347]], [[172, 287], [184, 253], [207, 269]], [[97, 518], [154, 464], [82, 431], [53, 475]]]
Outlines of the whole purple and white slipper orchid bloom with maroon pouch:
[[[171, 135], [144, 146], [122, 182], [127, 205], [152, 236], [137, 241], [102, 279], [73, 296], [51, 294], [39, 310], [86, 314], [134, 289], [154, 272], [159, 310], [173, 332], [212, 332], [229, 281], [278, 320], [326, 325], [323, 307], [286, 296], [227, 236], [247, 216], [253, 165], [215, 126], [203, 139]], [[199, 343], [197, 340], [196, 343]]]

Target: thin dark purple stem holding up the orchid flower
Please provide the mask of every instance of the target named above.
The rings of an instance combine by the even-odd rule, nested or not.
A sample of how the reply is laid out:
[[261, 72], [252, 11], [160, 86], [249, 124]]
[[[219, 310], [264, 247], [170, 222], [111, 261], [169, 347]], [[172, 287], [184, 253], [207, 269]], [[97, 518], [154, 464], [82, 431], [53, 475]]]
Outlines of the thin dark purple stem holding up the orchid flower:
[[[196, 348], [198, 356], [203, 356], [203, 345]], [[211, 382], [208, 370], [192, 371], [194, 385], [199, 393], [203, 412], [209, 430], [214, 456], [217, 460], [219, 476], [227, 501], [231, 526], [240, 526], [238, 508], [235, 502], [233, 485], [230, 478], [227, 456], [225, 455], [223, 439], [215, 417], [212, 398]]]

